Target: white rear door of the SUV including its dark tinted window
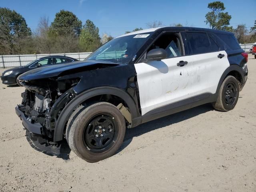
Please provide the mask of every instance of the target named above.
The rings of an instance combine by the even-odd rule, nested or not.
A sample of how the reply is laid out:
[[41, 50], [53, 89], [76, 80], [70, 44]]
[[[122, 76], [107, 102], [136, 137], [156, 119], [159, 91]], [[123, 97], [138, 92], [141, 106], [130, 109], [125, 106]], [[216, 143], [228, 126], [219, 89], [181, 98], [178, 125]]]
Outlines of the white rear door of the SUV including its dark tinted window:
[[226, 51], [206, 32], [186, 32], [190, 47], [190, 79], [192, 95], [215, 94], [220, 77], [230, 66]]

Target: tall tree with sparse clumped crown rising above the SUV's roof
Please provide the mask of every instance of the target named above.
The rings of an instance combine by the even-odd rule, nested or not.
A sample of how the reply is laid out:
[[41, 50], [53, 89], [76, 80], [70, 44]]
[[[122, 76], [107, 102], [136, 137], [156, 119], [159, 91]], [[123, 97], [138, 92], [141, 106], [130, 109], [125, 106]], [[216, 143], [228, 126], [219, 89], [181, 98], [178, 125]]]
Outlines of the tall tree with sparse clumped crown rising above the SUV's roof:
[[208, 12], [205, 16], [206, 24], [209, 24], [212, 29], [219, 29], [219, 30], [230, 30], [227, 28], [230, 24], [231, 16], [228, 12], [222, 12], [225, 10], [224, 3], [220, 1], [215, 1], [208, 4], [208, 8], [212, 11]]

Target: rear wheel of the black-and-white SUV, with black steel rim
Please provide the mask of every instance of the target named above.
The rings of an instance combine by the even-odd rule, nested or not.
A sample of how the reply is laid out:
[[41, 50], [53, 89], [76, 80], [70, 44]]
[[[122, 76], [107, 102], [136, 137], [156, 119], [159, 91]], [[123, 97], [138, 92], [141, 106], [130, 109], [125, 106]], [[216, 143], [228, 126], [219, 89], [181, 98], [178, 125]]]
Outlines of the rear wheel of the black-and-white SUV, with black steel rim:
[[234, 76], [227, 76], [220, 86], [216, 102], [212, 106], [219, 111], [234, 109], [239, 97], [239, 84]]

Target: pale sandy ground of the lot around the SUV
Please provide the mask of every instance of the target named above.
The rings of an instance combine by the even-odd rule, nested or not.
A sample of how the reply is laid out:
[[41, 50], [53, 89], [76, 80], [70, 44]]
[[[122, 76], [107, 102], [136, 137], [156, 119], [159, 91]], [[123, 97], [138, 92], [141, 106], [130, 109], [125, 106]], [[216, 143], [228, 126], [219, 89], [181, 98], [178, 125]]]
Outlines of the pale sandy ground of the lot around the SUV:
[[34, 150], [14, 112], [24, 88], [1, 84], [0, 191], [255, 192], [256, 59], [249, 58], [234, 110], [206, 104], [129, 129], [119, 152], [98, 163]]

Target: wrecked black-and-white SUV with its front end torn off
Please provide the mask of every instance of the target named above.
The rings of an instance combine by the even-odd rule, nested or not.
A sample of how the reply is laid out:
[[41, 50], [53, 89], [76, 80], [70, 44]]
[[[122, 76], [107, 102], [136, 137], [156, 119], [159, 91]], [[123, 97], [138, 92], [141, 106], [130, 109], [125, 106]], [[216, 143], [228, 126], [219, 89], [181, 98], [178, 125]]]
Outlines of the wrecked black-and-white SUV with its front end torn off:
[[[37, 68], [16, 114], [31, 141], [71, 150], [88, 162], [116, 153], [126, 128], [205, 103], [232, 110], [248, 75], [234, 34], [162, 27], [114, 38], [86, 60]], [[45, 150], [44, 150], [45, 151]]]

